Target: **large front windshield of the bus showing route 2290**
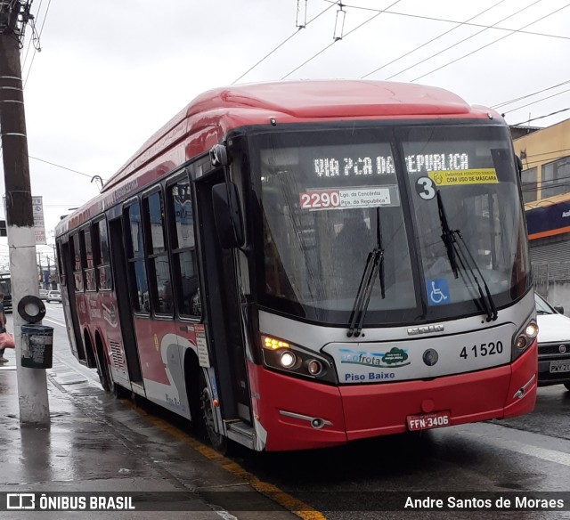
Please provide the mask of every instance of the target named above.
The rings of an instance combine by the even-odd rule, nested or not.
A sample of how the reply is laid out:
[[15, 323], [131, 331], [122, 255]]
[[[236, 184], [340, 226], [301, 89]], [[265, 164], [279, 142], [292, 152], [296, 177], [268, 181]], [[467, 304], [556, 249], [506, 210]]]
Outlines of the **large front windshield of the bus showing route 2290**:
[[[366, 326], [485, 313], [485, 284], [493, 306], [525, 294], [530, 264], [504, 128], [336, 127], [251, 142], [262, 305], [347, 324], [379, 236]], [[455, 269], [442, 207], [460, 242]]]

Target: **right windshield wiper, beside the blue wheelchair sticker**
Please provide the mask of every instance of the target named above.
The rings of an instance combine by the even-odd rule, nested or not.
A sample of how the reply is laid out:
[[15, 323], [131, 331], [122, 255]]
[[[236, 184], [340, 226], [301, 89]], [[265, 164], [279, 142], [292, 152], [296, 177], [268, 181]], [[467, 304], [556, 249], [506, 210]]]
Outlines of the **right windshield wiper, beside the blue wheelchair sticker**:
[[[459, 268], [457, 264], [457, 259], [459, 259], [459, 264], [463, 272], [468, 273], [468, 277], [470, 275], [470, 277], [475, 282], [475, 285], [479, 291], [479, 303], [485, 309], [485, 313], [487, 314], [487, 321], [495, 321], [497, 319], [498, 313], [497, 307], [493, 301], [493, 297], [491, 296], [491, 291], [487, 286], [485, 278], [483, 277], [483, 274], [481, 273], [481, 270], [479, 269], [475, 258], [473, 255], [471, 255], [471, 251], [469, 251], [467, 243], [463, 239], [463, 235], [461, 234], [460, 230], [450, 229], [449, 223], [447, 221], [447, 215], [445, 215], [444, 201], [442, 200], [441, 192], [437, 190], [436, 193], [439, 221], [442, 226], [442, 240], [444, 241], [445, 249], [447, 250], [447, 256], [452, 266], [452, 272], [455, 275], [455, 278], [459, 277]], [[459, 240], [457, 240], [458, 238]], [[476, 273], [483, 281], [483, 287], [481, 286]], [[484, 288], [485, 293], [483, 290]]]

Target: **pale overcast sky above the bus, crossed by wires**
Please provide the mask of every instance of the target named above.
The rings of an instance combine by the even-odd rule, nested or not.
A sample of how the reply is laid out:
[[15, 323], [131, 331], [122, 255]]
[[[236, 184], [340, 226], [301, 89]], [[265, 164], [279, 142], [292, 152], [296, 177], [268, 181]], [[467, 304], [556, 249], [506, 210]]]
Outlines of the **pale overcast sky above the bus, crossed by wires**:
[[[21, 60], [32, 193], [44, 198], [48, 242], [60, 215], [98, 192], [93, 175], [108, 179], [216, 86], [389, 79], [447, 88], [509, 124], [570, 118], [565, 0], [343, 5], [335, 40], [343, 15], [328, 0], [34, 0], [41, 52], [28, 26]], [[7, 249], [0, 240], [0, 266]]]

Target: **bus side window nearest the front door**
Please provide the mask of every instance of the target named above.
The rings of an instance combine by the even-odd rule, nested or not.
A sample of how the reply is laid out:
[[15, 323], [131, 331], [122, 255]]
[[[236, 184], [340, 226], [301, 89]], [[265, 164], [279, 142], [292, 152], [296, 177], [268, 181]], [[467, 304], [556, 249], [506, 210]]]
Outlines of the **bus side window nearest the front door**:
[[191, 187], [187, 178], [180, 179], [168, 187], [167, 204], [170, 210], [170, 248], [175, 302], [181, 316], [199, 317], [202, 308], [199, 295]]

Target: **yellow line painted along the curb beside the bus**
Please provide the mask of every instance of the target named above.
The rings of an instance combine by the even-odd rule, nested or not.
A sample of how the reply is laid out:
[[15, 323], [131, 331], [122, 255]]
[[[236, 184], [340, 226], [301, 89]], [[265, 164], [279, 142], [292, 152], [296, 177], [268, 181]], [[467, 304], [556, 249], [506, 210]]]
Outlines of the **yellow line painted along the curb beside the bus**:
[[223, 467], [226, 471], [232, 473], [232, 475], [245, 480], [256, 490], [256, 492], [260, 492], [274, 502], [277, 502], [283, 508], [288, 509], [299, 518], [303, 518], [304, 520], [325, 520], [325, 516], [322, 515], [321, 512], [311, 508], [311, 506], [305, 504], [305, 502], [297, 500], [287, 492], [281, 491], [280, 488], [274, 486], [272, 483], [266, 483], [259, 480], [256, 475], [252, 475], [243, 467], [240, 467], [239, 464], [233, 462], [233, 460], [227, 459], [224, 455], [221, 455], [206, 444], [200, 443], [196, 439], [192, 439], [190, 436], [181, 432], [178, 428], [169, 425], [166, 421], [154, 417], [146, 411], [137, 408], [132, 402], [123, 402], [123, 404], [125, 404], [127, 408], [130, 408], [141, 415], [142, 418], [151, 422], [155, 427], [159, 427], [161, 430], [173, 435], [176, 439], [189, 444], [191, 448], [198, 451], [201, 455], [216, 463], [218, 466]]

